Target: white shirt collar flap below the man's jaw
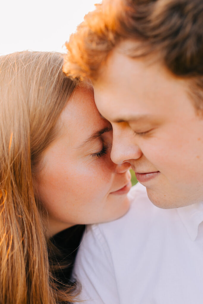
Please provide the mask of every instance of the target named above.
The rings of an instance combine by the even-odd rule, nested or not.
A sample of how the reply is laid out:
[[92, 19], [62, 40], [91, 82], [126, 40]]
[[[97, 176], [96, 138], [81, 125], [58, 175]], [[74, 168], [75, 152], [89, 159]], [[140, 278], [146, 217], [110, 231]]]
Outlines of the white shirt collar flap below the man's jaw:
[[198, 226], [203, 221], [203, 202], [177, 208], [190, 238], [194, 241], [198, 235]]

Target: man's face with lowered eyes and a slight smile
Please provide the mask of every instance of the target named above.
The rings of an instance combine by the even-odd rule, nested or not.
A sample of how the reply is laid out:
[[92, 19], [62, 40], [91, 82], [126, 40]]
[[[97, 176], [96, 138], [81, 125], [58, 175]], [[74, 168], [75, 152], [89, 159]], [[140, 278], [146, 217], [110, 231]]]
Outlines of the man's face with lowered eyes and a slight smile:
[[116, 49], [94, 84], [97, 108], [113, 126], [112, 161], [129, 162], [161, 208], [203, 200], [203, 119], [187, 90], [161, 64]]

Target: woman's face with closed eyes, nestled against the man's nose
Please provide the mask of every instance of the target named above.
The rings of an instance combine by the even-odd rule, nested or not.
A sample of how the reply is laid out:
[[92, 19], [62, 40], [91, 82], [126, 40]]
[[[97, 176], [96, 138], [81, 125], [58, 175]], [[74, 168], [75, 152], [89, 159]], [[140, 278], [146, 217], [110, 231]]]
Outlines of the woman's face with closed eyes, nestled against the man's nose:
[[110, 221], [127, 212], [129, 163], [111, 161], [111, 125], [101, 118], [90, 86], [76, 89], [57, 130], [37, 178], [37, 191], [48, 213], [48, 235], [75, 224]]

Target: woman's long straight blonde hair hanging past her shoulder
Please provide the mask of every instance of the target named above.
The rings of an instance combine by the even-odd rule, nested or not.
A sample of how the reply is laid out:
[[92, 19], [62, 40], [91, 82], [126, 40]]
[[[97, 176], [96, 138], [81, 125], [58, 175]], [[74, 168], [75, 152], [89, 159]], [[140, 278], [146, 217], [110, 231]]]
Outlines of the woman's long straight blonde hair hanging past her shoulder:
[[0, 57], [0, 302], [73, 301], [51, 272], [33, 178], [76, 83], [63, 57], [19, 52]]

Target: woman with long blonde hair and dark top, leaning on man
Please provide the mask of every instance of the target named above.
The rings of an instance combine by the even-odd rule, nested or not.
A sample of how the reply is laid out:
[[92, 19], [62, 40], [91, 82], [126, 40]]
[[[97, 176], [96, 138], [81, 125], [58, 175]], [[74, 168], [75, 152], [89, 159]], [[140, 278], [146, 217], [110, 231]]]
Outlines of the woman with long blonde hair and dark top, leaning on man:
[[1, 303], [74, 302], [66, 275], [83, 230], [74, 226], [129, 207], [129, 164], [110, 160], [111, 125], [92, 87], [65, 77], [62, 65], [58, 53], [0, 57]]

